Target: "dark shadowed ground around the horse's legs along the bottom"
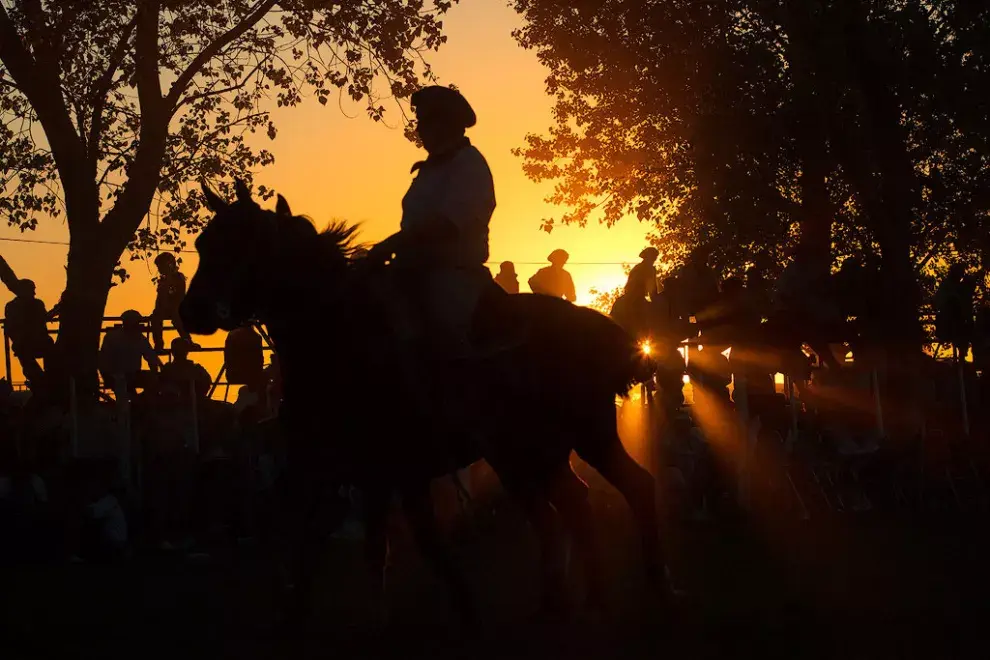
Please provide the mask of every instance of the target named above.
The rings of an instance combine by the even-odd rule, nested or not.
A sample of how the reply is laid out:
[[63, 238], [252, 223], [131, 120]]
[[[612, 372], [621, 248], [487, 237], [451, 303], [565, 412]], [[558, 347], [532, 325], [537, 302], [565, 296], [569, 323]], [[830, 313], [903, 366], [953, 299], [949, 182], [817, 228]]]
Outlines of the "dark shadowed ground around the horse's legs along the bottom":
[[[985, 514], [668, 526], [671, 564], [689, 593], [661, 616], [642, 589], [624, 504], [601, 487], [594, 503], [613, 586], [607, 620], [551, 627], [531, 618], [536, 549], [508, 507], [460, 542], [486, 613], [480, 640], [451, 632], [442, 591], [400, 535], [388, 632], [368, 625], [359, 545], [339, 541], [305, 656], [990, 657]], [[271, 631], [277, 580], [255, 551], [8, 567], [0, 580], [0, 658], [290, 656]]]

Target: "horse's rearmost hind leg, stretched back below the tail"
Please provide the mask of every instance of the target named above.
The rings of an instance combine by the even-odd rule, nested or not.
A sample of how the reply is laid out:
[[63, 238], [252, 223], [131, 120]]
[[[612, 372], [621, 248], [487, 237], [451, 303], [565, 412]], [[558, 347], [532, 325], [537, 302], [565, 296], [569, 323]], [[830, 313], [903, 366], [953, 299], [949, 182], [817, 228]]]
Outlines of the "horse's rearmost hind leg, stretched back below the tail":
[[657, 521], [656, 482], [649, 471], [633, 460], [622, 446], [611, 404], [607, 418], [603, 417], [603, 422], [595, 428], [598, 432], [585, 435], [575, 451], [622, 493], [639, 528], [647, 580], [652, 587], [666, 593], [669, 585]]

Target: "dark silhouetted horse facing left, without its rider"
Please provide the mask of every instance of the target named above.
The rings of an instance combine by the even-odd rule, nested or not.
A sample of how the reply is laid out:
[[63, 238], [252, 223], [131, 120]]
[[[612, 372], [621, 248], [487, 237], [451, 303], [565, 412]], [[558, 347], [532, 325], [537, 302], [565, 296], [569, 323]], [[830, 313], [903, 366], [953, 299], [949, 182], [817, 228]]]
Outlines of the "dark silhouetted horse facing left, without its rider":
[[[371, 293], [380, 269], [359, 256], [355, 228], [335, 224], [319, 233], [281, 196], [274, 212], [263, 210], [240, 183], [233, 203], [205, 186], [204, 193], [215, 215], [196, 240], [199, 266], [181, 314], [195, 334], [258, 321], [275, 344], [283, 378], [279, 421], [298, 516], [297, 588], [312, 584], [321, 539], [343, 518], [339, 508], [328, 517], [319, 502], [350, 484], [364, 494], [373, 567], [384, 568], [385, 517], [397, 494], [424, 558], [449, 587], [454, 611], [476, 623], [466, 582], [441, 541], [429, 482], [484, 458], [540, 537], [544, 607], [566, 604], [557, 516], [583, 559], [589, 600], [600, 601], [588, 488], [571, 469], [573, 450], [626, 498], [649, 583], [666, 594], [655, 484], [616, 429], [615, 397], [645, 374], [635, 341], [621, 328], [593, 310], [546, 296], [510, 296], [493, 284], [482, 303], [489, 321], [481, 325], [497, 331], [492, 317], [510, 315], [521, 335], [453, 371], [434, 365], [439, 379], [459, 378], [455, 385], [475, 389], [473, 400], [483, 405], [460, 428], [432, 437], [437, 427], [413, 405], [416, 397], [400, 391], [383, 407], [376, 396], [383, 382], [395, 380], [397, 349]], [[307, 598], [301, 590], [300, 616]]]

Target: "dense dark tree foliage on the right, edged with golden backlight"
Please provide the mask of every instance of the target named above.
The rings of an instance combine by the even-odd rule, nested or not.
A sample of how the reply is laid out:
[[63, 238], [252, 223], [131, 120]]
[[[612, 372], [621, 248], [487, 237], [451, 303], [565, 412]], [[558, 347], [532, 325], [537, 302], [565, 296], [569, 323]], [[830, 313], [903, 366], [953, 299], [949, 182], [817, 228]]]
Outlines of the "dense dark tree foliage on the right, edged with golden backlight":
[[[656, 227], [725, 270], [824, 245], [903, 283], [988, 262], [990, 10], [966, 0], [516, 0], [554, 123], [518, 153], [554, 222]], [[831, 251], [829, 248], [832, 248]], [[910, 263], [908, 263], [910, 259]]]

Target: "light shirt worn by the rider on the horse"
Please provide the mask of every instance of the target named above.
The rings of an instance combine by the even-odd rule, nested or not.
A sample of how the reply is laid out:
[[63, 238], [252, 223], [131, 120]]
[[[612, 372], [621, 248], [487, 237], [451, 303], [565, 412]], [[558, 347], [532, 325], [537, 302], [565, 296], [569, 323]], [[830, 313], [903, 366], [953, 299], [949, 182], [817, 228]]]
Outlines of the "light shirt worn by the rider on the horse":
[[446, 158], [427, 160], [402, 198], [408, 229], [442, 217], [457, 227], [457, 238], [441, 246], [438, 261], [460, 267], [488, 261], [488, 223], [495, 211], [495, 186], [485, 157], [471, 144]]

